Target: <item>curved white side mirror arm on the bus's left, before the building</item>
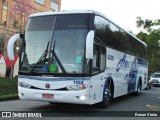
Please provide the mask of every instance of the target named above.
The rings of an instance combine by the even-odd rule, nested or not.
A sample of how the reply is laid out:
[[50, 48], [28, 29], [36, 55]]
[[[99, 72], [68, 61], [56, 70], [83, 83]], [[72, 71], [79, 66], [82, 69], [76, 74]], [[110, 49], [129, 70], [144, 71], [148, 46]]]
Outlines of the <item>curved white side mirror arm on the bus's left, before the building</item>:
[[14, 43], [17, 39], [20, 39], [20, 34], [13, 35], [8, 41], [7, 53], [10, 60], [14, 60]]

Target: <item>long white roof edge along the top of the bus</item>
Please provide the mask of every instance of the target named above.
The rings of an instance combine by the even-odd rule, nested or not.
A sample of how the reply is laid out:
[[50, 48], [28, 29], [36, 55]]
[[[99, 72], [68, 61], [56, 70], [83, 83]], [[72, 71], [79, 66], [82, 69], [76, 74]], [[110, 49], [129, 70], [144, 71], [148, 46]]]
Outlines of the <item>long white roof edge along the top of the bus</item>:
[[94, 11], [94, 10], [63, 10], [60, 12], [40, 12], [40, 13], [35, 13], [30, 15], [29, 17], [38, 17], [38, 16], [47, 16], [47, 15], [60, 15], [60, 14], [96, 14], [99, 16], [102, 16], [104, 18], [106, 18], [107, 20], [109, 20], [110, 22], [112, 22], [113, 24], [115, 24], [117, 27], [121, 28], [123, 31], [125, 31], [126, 33], [128, 33], [130, 36], [132, 36], [133, 38], [135, 38], [137, 41], [139, 41], [140, 43], [142, 43], [145, 47], [147, 47], [147, 44], [144, 43], [143, 41], [141, 41], [140, 39], [138, 39], [137, 37], [135, 37], [135, 35], [131, 34], [130, 32], [128, 32], [127, 30], [123, 29], [121, 26], [117, 25], [115, 22], [113, 22], [111, 19], [109, 19], [108, 17], [106, 17], [104, 14]]

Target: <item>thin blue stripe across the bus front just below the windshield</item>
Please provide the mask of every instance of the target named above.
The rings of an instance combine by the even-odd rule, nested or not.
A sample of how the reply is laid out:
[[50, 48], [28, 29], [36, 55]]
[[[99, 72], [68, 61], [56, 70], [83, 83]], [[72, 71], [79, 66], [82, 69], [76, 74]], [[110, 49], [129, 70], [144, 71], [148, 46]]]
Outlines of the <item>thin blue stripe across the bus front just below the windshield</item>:
[[40, 80], [40, 81], [90, 80], [89, 77], [44, 78], [44, 77], [32, 77], [23, 75], [18, 76], [18, 78], [24, 78], [28, 80]]

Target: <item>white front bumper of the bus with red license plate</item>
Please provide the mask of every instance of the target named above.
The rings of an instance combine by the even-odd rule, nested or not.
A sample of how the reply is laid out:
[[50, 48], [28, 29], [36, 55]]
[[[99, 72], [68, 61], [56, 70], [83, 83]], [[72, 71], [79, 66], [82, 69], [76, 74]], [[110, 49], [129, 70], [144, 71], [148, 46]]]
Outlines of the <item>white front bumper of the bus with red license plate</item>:
[[34, 100], [55, 103], [89, 104], [89, 90], [79, 91], [53, 91], [35, 90], [18, 87], [21, 100]]

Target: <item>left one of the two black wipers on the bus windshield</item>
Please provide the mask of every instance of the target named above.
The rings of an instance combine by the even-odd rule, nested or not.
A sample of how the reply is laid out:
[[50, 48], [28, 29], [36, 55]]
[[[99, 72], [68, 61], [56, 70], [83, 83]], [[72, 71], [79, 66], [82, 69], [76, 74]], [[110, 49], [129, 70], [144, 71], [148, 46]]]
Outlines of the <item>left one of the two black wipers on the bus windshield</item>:
[[36, 68], [36, 66], [41, 63], [42, 61], [46, 60], [46, 57], [48, 55], [48, 47], [49, 47], [49, 43], [50, 41], [48, 41], [48, 44], [47, 44], [47, 47], [46, 47], [46, 50], [44, 51], [44, 53], [42, 54], [42, 56], [39, 58], [39, 60], [36, 62], [36, 64], [33, 66], [32, 70], [30, 73], [33, 72], [33, 70]]

